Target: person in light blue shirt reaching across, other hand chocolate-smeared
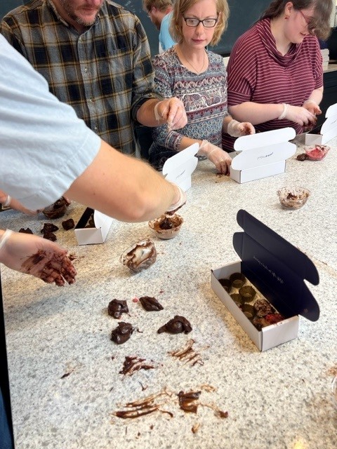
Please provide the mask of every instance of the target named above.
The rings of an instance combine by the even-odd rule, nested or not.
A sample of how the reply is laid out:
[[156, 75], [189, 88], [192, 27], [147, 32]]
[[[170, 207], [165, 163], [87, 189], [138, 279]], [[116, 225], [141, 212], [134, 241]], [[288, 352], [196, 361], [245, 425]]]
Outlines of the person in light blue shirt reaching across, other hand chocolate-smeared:
[[[1, 201], [14, 206], [9, 194], [20, 208], [38, 210], [65, 194], [126, 222], [147, 221], [185, 203], [178, 186], [147, 163], [110, 147], [72, 107], [51, 94], [46, 79], [4, 36], [0, 36], [0, 61]], [[171, 108], [165, 121], [179, 121], [177, 113]], [[58, 245], [10, 230], [0, 231], [0, 262], [58, 286], [74, 282], [76, 275]], [[0, 448], [9, 449], [13, 442], [2, 300], [0, 366]]]

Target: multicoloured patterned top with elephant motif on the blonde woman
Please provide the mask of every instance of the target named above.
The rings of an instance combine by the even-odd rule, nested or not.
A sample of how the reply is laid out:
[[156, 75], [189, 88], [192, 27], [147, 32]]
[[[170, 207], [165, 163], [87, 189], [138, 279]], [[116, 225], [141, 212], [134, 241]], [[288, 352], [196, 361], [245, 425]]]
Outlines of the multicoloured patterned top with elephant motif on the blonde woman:
[[182, 65], [175, 47], [154, 57], [155, 90], [164, 98], [182, 100], [187, 124], [180, 130], [169, 130], [166, 125], [154, 128], [154, 143], [150, 149], [152, 159], [154, 154], [159, 156], [161, 152], [167, 153], [168, 149], [176, 153], [183, 136], [209, 140], [221, 147], [223, 119], [228, 115], [227, 74], [223, 57], [211, 51], [206, 53], [209, 67], [201, 74], [190, 72]]

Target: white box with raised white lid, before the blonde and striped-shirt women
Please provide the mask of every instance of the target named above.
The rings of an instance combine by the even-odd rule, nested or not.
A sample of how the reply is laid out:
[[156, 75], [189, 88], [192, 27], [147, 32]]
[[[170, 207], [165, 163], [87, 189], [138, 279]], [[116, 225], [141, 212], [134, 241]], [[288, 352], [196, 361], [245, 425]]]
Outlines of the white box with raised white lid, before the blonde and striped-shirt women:
[[237, 154], [232, 159], [230, 177], [239, 183], [279, 175], [286, 170], [286, 159], [296, 152], [293, 128], [282, 128], [265, 133], [244, 135], [234, 142]]

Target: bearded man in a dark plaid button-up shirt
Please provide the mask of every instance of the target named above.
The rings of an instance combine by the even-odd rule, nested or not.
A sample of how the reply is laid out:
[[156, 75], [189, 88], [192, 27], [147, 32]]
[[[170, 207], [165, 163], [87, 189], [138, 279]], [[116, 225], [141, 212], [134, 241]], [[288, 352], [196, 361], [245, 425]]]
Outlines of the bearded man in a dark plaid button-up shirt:
[[[0, 32], [100, 138], [134, 154], [133, 128], [156, 126], [150, 46], [140, 20], [111, 0], [35, 0], [5, 15]], [[164, 100], [162, 116], [183, 105]], [[184, 123], [185, 124], [185, 123]], [[178, 128], [181, 123], [171, 123]]]

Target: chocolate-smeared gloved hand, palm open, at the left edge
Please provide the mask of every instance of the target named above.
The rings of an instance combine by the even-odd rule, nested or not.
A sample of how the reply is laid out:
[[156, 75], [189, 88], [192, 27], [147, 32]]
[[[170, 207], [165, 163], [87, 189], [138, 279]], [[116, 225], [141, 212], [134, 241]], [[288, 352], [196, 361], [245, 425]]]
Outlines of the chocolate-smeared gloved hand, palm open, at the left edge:
[[74, 283], [77, 274], [67, 250], [48, 239], [9, 229], [0, 238], [0, 262], [57, 286]]

